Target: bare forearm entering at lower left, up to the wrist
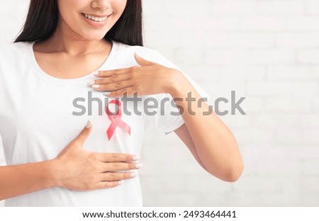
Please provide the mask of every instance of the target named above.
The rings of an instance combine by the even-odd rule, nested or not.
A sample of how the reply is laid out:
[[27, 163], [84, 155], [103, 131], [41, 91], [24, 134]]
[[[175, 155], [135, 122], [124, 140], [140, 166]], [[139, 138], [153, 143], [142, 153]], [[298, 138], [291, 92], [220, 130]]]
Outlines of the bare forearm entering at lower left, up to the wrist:
[[53, 161], [0, 166], [0, 200], [55, 186]]

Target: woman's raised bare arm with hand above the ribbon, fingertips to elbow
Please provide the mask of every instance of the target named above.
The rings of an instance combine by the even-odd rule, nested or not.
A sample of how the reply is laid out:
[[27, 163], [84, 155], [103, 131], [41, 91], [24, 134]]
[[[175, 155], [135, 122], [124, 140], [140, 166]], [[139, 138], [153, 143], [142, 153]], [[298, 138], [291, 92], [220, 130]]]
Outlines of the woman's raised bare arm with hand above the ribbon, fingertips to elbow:
[[[206, 102], [197, 105], [201, 96], [185, 75], [136, 54], [135, 60], [140, 67], [101, 71], [95, 75], [101, 79], [89, 85], [96, 91], [110, 91], [106, 93], [108, 97], [133, 95], [138, 91], [139, 95], [167, 93], [177, 98], [177, 106], [186, 110], [181, 113], [185, 123], [174, 132], [208, 173], [223, 181], [237, 181], [243, 162], [235, 137], [215, 113], [203, 114], [208, 112], [209, 106]], [[189, 92], [196, 101], [191, 102], [191, 106], [186, 102]]]

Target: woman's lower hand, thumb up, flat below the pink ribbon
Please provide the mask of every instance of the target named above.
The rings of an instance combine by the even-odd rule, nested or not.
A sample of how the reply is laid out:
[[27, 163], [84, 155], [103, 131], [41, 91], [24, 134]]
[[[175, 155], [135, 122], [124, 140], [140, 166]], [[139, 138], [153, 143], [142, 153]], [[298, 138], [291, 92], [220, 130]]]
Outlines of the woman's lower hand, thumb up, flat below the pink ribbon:
[[[92, 130], [88, 124], [52, 161], [55, 162], [57, 186], [75, 191], [91, 191], [112, 188], [125, 179], [137, 176], [132, 170], [142, 168], [132, 154], [89, 152], [82, 148]], [[121, 172], [122, 171], [122, 172]]]

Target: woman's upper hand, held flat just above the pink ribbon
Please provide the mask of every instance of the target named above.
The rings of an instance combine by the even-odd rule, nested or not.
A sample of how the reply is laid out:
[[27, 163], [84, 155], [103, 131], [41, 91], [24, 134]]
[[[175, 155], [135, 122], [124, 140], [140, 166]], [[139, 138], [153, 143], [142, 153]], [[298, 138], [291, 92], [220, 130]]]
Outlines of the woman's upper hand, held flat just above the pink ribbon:
[[183, 74], [177, 69], [164, 67], [160, 64], [147, 61], [135, 54], [135, 60], [140, 67], [100, 71], [98, 79], [89, 84], [96, 91], [105, 91], [106, 96], [121, 97], [168, 93], [174, 89], [176, 82], [183, 79]]

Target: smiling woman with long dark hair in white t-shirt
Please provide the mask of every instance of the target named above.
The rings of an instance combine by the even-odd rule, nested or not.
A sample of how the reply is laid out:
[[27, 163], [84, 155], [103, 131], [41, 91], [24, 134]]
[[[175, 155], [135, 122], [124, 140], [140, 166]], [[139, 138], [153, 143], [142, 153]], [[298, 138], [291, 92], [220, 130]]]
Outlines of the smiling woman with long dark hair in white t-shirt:
[[[208, 94], [142, 47], [141, 5], [30, 1], [22, 33], [0, 49], [7, 206], [142, 205], [138, 156], [147, 127], [174, 131], [213, 176], [239, 178], [235, 138], [215, 114], [204, 114]], [[172, 98], [179, 109], [164, 102]]]

